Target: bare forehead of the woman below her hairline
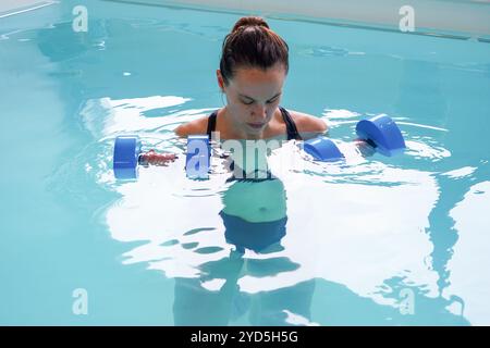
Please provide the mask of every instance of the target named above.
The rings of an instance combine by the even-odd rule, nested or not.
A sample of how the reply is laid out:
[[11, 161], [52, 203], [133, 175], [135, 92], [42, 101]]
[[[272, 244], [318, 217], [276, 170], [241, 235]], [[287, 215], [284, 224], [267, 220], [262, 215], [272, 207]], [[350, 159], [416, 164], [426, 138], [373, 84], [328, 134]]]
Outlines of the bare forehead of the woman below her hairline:
[[248, 97], [265, 96], [281, 91], [285, 80], [285, 69], [277, 64], [268, 70], [240, 67], [230, 85], [235, 91]]

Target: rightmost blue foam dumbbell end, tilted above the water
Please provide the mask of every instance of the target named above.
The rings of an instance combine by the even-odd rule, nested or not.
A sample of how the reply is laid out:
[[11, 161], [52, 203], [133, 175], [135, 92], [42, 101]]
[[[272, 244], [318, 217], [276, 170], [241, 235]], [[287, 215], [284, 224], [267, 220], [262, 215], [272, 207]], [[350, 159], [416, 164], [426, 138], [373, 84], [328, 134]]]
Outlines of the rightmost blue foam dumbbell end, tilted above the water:
[[396, 123], [387, 115], [362, 120], [356, 125], [356, 133], [376, 150], [384, 156], [394, 156], [405, 150], [405, 140]]

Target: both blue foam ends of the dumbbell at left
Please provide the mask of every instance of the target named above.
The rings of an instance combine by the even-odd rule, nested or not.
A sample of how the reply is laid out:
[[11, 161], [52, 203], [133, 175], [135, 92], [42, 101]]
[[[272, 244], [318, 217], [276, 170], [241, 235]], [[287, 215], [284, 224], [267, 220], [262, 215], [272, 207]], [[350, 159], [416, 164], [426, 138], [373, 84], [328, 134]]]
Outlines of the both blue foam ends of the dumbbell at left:
[[[114, 142], [113, 171], [118, 179], [135, 179], [140, 163], [142, 141], [136, 135], [118, 136]], [[210, 163], [207, 136], [189, 136], [185, 171], [189, 178], [207, 178]]]

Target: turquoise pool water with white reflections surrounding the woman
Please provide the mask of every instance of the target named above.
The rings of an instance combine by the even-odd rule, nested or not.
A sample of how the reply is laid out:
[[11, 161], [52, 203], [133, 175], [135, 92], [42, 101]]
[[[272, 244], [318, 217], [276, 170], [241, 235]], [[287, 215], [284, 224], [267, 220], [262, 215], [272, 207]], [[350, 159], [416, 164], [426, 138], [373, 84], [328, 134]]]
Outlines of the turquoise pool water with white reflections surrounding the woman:
[[[240, 15], [85, 1], [74, 33], [75, 4], [0, 18], [0, 324], [490, 324], [489, 44], [269, 18], [282, 105], [326, 120], [345, 163], [293, 144], [274, 181], [226, 182], [219, 158], [189, 181], [181, 156], [123, 183], [117, 135], [182, 154], [173, 128], [223, 105]], [[382, 113], [407, 151], [364, 159], [355, 124]], [[244, 254], [224, 214], [260, 232]]]

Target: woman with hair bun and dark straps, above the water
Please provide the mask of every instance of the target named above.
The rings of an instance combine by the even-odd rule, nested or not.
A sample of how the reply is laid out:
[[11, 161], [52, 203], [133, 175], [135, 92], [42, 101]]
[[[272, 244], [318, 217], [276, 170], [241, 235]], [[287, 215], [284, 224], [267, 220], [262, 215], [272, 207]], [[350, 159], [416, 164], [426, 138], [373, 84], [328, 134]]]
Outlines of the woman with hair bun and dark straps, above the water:
[[[218, 85], [226, 105], [209, 116], [185, 123], [175, 134], [219, 132], [220, 139], [308, 139], [327, 132], [315, 116], [280, 107], [289, 71], [287, 44], [260, 17], [240, 18], [222, 46]], [[173, 153], [149, 151], [143, 164], [162, 165]]]

